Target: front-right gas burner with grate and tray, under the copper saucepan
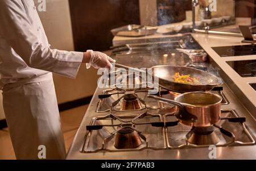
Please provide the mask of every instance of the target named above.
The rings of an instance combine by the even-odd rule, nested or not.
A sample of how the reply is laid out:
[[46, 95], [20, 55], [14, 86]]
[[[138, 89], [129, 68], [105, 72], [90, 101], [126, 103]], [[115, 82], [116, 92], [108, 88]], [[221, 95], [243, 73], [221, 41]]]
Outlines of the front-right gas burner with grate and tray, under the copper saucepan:
[[[167, 114], [166, 121], [172, 121], [173, 118], [173, 114]], [[252, 144], [254, 140], [248, 134], [244, 122], [245, 118], [238, 117], [234, 110], [227, 109], [221, 111], [221, 120], [213, 126], [191, 129], [180, 123], [175, 127], [167, 127], [168, 148], [208, 147], [211, 144], [216, 147]], [[245, 136], [248, 139], [241, 139]]]

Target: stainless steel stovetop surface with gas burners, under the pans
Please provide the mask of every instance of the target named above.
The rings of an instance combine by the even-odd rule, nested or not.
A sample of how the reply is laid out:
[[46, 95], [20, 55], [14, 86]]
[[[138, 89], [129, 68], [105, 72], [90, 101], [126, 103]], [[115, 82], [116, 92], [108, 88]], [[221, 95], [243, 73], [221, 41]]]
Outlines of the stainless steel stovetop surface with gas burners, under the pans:
[[[199, 46], [188, 35], [182, 39]], [[212, 63], [193, 63], [179, 52], [129, 51], [113, 57], [131, 67], [179, 65], [217, 74]], [[182, 125], [174, 116], [175, 106], [147, 99], [150, 87], [137, 87], [143, 84], [135, 77], [126, 89], [110, 83], [97, 88], [67, 159], [209, 159], [212, 144], [217, 159], [256, 159], [255, 119], [225, 83], [212, 91], [223, 97], [222, 119], [206, 130]], [[176, 96], [159, 92], [169, 99]]]

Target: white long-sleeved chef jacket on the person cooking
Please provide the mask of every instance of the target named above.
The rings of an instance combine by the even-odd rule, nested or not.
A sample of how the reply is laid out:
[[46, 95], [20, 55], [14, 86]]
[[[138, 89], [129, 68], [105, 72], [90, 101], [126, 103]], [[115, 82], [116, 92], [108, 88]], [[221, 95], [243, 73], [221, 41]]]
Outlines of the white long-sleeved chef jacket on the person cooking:
[[49, 47], [33, 0], [0, 0], [0, 89], [49, 72], [75, 78], [82, 58]]

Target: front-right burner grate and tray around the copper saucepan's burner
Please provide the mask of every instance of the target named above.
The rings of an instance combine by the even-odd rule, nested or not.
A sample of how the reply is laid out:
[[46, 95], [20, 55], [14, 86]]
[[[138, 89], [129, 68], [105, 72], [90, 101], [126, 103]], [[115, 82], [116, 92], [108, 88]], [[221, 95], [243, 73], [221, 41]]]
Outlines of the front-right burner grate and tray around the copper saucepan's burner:
[[[166, 116], [167, 121], [170, 120]], [[234, 110], [226, 109], [221, 112], [221, 121], [214, 125], [213, 132], [218, 136], [217, 147], [220, 146], [242, 146], [254, 144], [254, 139], [245, 126], [245, 118], [238, 117]], [[201, 144], [200, 142], [189, 143], [187, 138], [191, 137], [193, 128], [178, 125], [177, 127], [167, 128], [168, 148], [187, 148], [187, 147], [208, 147], [210, 144]], [[203, 136], [202, 136], [203, 138]], [[208, 137], [209, 138], [209, 137]], [[175, 139], [175, 140], [174, 140]]]

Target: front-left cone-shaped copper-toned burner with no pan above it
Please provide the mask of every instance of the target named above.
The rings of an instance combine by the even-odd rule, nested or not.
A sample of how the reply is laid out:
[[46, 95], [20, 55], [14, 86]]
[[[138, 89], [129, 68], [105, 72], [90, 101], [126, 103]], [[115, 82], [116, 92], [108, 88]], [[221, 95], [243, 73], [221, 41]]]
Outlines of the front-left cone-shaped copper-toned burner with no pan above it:
[[114, 146], [117, 149], [137, 148], [142, 144], [138, 131], [131, 126], [123, 127], [116, 134]]

